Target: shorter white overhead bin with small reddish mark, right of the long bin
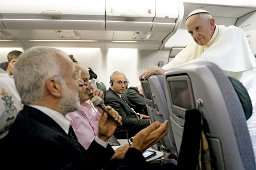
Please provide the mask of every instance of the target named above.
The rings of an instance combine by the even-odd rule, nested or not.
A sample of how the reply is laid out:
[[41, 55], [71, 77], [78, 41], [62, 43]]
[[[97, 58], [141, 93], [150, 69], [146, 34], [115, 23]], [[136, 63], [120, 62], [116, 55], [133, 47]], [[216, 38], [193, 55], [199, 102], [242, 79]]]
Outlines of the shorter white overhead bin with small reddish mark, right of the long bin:
[[151, 31], [155, 0], [106, 0], [106, 30]]

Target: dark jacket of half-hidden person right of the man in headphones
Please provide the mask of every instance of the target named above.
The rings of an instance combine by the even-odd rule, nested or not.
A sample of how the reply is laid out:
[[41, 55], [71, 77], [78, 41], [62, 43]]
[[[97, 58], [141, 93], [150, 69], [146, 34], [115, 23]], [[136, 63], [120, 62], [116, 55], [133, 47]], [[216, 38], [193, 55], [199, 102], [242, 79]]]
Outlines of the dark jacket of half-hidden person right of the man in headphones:
[[139, 94], [137, 87], [129, 87], [123, 97], [131, 104], [130, 107], [134, 108], [135, 112], [148, 115], [144, 97]]

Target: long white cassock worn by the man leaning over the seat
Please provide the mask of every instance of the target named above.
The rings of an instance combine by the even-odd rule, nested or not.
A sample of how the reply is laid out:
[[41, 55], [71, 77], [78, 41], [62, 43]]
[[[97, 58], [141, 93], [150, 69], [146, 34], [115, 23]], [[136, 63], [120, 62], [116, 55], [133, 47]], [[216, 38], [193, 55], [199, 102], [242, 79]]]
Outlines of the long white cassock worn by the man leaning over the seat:
[[247, 126], [256, 160], [256, 62], [245, 33], [233, 25], [216, 25], [207, 45], [200, 46], [192, 41], [162, 69], [171, 69], [191, 60], [216, 63], [226, 75], [240, 80], [245, 86], [253, 105]]

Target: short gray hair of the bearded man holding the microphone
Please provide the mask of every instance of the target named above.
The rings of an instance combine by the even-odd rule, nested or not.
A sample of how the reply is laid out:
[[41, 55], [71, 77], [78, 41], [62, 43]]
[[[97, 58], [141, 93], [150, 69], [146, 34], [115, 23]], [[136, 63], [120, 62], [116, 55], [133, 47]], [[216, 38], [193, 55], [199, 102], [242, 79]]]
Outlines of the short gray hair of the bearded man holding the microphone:
[[[44, 99], [46, 80], [63, 73], [57, 55], [67, 56], [59, 49], [39, 46], [26, 50], [16, 61], [12, 71], [23, 104], [38, 104]], [[67, 56], [68, 58], [68, 56]]]

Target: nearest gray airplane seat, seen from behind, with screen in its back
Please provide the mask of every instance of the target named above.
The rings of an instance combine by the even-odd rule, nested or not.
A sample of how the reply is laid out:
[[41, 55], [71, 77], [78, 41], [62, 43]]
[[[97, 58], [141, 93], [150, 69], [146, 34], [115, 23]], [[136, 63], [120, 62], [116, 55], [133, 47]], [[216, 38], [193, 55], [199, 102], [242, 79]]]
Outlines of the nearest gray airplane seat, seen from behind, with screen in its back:
[[208, 129], [205, 136], [214, 159], [213, 167], [256, 169], [245, 113], [228, 76], [220, 67], [212, 62], [191, 61], [165, 73], [164, 85], [178, 151], [185, 112], [198, 109], [204, 120], [199, 122], [204, 122], [203, 126]]

